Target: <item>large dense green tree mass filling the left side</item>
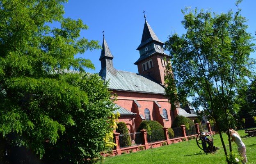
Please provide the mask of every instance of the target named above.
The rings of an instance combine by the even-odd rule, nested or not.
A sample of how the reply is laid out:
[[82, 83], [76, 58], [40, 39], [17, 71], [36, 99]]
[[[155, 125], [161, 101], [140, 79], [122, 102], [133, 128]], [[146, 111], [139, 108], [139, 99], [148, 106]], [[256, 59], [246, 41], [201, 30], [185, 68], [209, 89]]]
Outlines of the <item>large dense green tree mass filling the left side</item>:
[[14, 157], [9, 146], [64, 163], [88, 162], [103, 150], [111, 94], [85, 72], [91, 61], [75, 57], [101, 46], [80, 37], [88, 29], [80, 19], [63, 17], [64, 2], [0, 2], [0, 160], [6, 150]]

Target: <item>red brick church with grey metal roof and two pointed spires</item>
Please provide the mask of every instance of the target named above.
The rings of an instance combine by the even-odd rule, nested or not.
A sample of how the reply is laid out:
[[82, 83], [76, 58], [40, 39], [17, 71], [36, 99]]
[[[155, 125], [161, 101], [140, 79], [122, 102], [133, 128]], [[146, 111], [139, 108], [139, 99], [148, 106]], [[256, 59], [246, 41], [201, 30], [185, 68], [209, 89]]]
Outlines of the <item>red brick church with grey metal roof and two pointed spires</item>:
[[163, 45], [145, 18], [142, 40], [137, 48], [139, 59], [134, 63], [138, 66], [139, 73], [131, 73], [114, 68], [114, 57], [103, 35], [99, 75], [103, 80], [109, 81], [112, 93], [117, 93], [115, 103], [118, 109], [115, 112], [119, 112], [119, 121], [126, 123], [130, 133], [136, 132], [144, 120], [158, 121], [164, 127], [170, 128], [175, 116], [185, 111], [172, 107], [165, 97], [164, 57], [169, 61], [169, 55], [164, 52]]

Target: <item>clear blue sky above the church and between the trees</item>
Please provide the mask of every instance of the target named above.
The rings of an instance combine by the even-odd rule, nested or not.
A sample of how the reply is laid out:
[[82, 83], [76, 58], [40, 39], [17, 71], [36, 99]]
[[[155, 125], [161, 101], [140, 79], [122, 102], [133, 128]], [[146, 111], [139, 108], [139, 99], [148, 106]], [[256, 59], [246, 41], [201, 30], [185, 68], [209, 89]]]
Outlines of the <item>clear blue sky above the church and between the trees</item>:
[[[64, 5], [64, 17], [80, 18], [89, 30], [81, 32], [81, 36], [88, 40], [98, 40], [100, 45], [105, 39], [114, 56], [113, 64], [117, 70], [137, 73], [137, 66], [133, 63], [139, 58], [139, 46], [144, 27], [145, 10], [146, 20], [162, 42], [174, 32], [185, 33], [181, 25], [183, 14], [181, 9], [196, 7], [210, 9], [217, 14], [226, 13], [229, 9], [236, 11], [235, 0], [69, 0]], [[256, 31], [256, 0], [244, 0], [239, 7], [242, 16], [248, 19], [248, 32]], [[167, 52], [167, 54], [169, 54]], [[101, 50], [87, 51], [82, 57], [90, 59], [96, 67], [87, 70], [98, 73], [101, 63], [98, 60]], [[251, 57], [256, 58], [256, 53]]]

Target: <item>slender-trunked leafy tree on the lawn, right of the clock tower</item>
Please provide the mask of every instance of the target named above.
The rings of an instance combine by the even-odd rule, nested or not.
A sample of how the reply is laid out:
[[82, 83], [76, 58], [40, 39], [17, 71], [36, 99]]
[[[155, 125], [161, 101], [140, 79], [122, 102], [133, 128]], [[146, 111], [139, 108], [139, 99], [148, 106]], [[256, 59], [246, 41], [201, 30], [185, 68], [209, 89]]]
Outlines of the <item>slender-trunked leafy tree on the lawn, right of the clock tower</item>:
[[219, 15], [197, 9], [182, 12], [187, 32], [169, 36], [165, 42], [172, 61], [166, 69], [166, 94], [175, 104], [192, 97], [192, 105], [203, 107], [218, 127], [223, 117], [228, 130], [229, 116], [238, 110], [237, 90], [247, 89], [254, 68], [255, 61], [249, 57], [254, 52], [253, 36], [246, 32], [240, 9]]

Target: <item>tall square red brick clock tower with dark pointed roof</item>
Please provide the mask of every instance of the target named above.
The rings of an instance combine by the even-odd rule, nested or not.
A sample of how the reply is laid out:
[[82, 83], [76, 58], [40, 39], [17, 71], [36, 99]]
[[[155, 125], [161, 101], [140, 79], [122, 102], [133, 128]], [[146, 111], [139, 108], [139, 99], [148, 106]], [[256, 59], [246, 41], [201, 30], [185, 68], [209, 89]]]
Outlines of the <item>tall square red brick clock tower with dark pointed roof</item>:
[[139, 50], [139, 59], [134, 63], [138, 66], [139, 74], [149, 75], [161, 84], [165, 83], [166, 57], [169, 61], [169, 55], [164, 52], [164, 44], [153, 32], [149, 23], [146, 21], [142, 33], [142, 40], [137, 48]]

